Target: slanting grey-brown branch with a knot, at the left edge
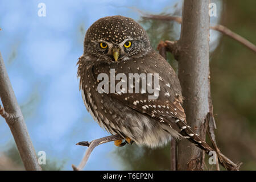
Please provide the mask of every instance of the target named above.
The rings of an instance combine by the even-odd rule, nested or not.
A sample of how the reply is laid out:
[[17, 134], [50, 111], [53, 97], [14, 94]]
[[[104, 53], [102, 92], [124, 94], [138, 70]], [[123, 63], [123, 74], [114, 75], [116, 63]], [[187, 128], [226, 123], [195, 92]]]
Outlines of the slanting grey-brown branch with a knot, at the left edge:
[[0, 53], [0, 114], [6, 119], [26, 170], [42, 170]]

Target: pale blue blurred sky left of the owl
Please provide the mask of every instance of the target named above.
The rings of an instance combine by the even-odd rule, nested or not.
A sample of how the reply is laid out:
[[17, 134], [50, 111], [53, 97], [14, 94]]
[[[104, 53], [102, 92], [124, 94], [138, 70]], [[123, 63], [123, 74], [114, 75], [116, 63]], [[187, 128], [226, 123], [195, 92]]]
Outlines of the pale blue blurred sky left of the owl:
[[[46, 17], [38, 16], [41, 2], [46, 4]], [[129, 7], [172, 13], [177, 2], [181, 5], [178, 0], [0, 2], [0, 51], [36, 152], [46, 151], [48, 159], [60, 164], [65, 161], [63, 169], [70, 170], [85, 152], [75, 143], [109, 135], [86, 111], [76, 77], [88, 27], [109, 15], [138, 20], [139, 14]], [[13, 143], [0, 118], [0, 152]], [[113, 142], [96, 147], [85, 169], [122, 169], [114, 149]]]

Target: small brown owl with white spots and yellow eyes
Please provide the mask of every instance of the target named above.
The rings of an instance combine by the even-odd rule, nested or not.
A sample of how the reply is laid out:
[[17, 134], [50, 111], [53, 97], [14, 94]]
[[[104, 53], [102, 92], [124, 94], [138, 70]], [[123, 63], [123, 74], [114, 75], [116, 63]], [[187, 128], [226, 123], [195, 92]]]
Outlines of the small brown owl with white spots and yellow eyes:
[[[200, 148], [210, 150], [186, 123], [180, 82], [174, 69], [152, 49], [146, 31], [133, 19], [107, 16], [93, 23], [86, 32], [84, 53], [77, 65], [86, 109], [110, 134], [121, 135], [126, 143], [152, 148], [163, 146], [172, 137], [187, 138]], [[133, 92], [127, 88], [121, 92], [102, 92], [99, 88], [102, 73], [109, 77], [105, 89], [113, 85], [115, 88], [122, 82]], [[121, 73], [124, 77], [112, 78], [112, 73], [114, 76]], [[136, 84], [128, 82], [131, 73], [158, 74], [157, 85], [155, 81], [146, 82], [147, 86], [155, 85], [158, 91], [155, 99], [149, 99], [152, 93], [142, 88], [143, 81], [150, 80], [147, 77], [134, 79], [134, 82], [141, 81], [138, 92], [134, 91]], [[115, 141], [115, 145], [122, 146], [122, 140]]]

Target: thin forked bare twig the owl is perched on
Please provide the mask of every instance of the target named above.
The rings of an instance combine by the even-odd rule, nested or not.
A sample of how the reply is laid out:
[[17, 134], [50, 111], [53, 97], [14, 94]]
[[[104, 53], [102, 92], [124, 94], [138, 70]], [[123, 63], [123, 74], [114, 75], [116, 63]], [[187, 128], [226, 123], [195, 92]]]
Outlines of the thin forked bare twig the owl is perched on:
[[72, 164], [73, 170], [74, 171], [80, 171], [82, 168], [85, 167], [85, 165], [86, 165], [86, 163], [89, 159], [90, 154], [92, 153], [93, 149], [96, 146], [98, 146], [100, 144], [103, 144], [103, 143], [113, 142], [114, 140], [121, 140], [121, 139], [123, 139], [123, 138], [120, 135], [110, 135], [108, 137], [103, 137], [103, 138], [92, 140], [92, 142], [79, 142], [79, 143], [77, 143], [77, 145], [86, 146], [88, 148], [87, 148], [87, 150], [85, 152], [85, 155], [84, 155], [84, 158], [82, 158], [79, 166], [76, 167]]

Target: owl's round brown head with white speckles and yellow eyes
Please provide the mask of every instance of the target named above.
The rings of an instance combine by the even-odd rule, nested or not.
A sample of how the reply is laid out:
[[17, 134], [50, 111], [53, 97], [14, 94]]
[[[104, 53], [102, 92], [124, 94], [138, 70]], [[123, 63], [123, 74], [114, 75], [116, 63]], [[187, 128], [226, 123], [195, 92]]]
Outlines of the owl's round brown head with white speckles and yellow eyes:
[[129, 60], [151, 51], [146, 31], [125, 16], [106, 16], [90, 26], [85, 35], [84, 54], [106, 61]]

